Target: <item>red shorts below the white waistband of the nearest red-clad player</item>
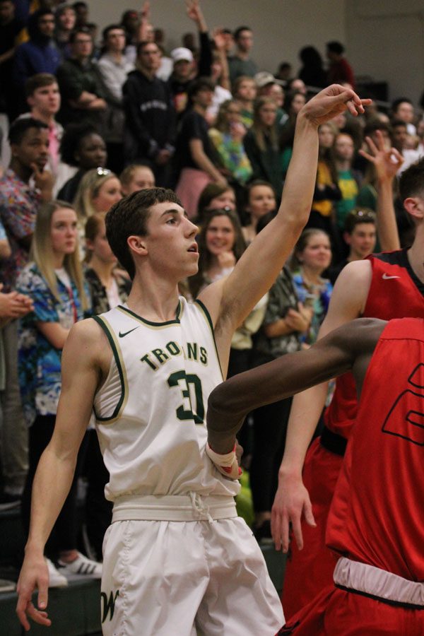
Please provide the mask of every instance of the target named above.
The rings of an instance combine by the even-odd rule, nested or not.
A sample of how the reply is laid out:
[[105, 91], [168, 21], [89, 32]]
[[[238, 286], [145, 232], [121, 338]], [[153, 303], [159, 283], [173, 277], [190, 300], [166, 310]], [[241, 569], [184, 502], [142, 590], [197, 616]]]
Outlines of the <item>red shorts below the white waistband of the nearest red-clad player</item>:
[[288, 636], [423, 636], [424, 609], [389, 605], [326, 587], [280, 634]]

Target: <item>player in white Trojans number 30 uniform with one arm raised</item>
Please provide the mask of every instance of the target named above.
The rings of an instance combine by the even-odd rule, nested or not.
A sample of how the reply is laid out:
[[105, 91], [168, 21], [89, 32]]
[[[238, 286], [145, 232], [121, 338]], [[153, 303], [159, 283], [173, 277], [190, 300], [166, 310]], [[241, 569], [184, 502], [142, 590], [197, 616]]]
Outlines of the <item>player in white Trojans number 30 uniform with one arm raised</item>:
[[73, 326], [64, 348], [57, 423], [35, 476], [18, 582], [26, 630], [28, 618], [51, 623], [43, 548], [93, 408], [114, 502], [103, 546], [103, 633], [273, 636], [283, 625], [261, 551], [236, 516], [234, 455], [206, 452], [206, 404], [226, 375], [233, 331], [275, 281], [307, 221], [317, 127], [367, 103], [331, 86], [305, 105], [276, 218], [192, 305], [177, 284], [197, 270], [197, 228], [175, 194], [144, 190], [108, 213], [107, 238], [133, 286], [127, 305]]

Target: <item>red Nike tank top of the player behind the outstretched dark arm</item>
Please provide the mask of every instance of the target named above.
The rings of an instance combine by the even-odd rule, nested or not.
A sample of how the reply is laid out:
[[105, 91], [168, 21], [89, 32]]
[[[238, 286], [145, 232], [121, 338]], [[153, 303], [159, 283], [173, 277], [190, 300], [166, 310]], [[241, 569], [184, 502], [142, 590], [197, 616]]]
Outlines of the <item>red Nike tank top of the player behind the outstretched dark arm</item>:
[[[372, 267], [370, 291], [363, 317], [424, 317], [424, 283], [413, 272], [406, 249], [368, 257]], [[356, 418], [355, 382], [351, 373], [336, 379], [333, 399], [324, 413], [326, 427], [346, 439]]]

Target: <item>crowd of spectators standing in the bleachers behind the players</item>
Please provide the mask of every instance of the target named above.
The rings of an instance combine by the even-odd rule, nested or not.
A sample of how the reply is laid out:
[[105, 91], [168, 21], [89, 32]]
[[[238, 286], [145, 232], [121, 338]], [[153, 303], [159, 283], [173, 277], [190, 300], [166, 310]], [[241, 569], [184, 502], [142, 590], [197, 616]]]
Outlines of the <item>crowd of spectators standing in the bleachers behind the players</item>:
[[[199, 0], [187, 1], [196, 33], [170, 51], [148, 2], [141, 12], [125, 11], [101, 37], [86, 2], [40, 0], [32, 12], [27, 5], [0, 0], [1, 130], [11, 156], [0, 178], [0, 505], [17, 505], [25, 488], [26, 526], [33, 474], [54, 426], [67, 331], [83, 315], [123, 302], [131, 284], [107, 246], [108, 209], [137, 189], [176, 189], [201, 226], [199, 275], [181, 288], [193, 299], [232, 269], [275, 213], [296, 117], [308, 98], [330, 83], [355, 88], [340, 42], [326, 44], [327, 66], [308, 45], [298, 76], [288, 62], [274, 75], [254, 61], [252, 28], [209, 30]], [[346, 263], [375, 249], [382, 230], [377, 170], [361, 151], [393, 146], [404, 170], [424, 154], [418, 114], [401, 97], [391, 109], [373, 105], [358, 119], [341, 114], [320, 127], [307, 230], [269, 295], [237, 329], [230, 373], [313, 342], [331, 283]], [[408, 245], [412, 230], [401, 206], [396, 220]], [[384, 232], [379, 240], [384, 249]], [[258, 538], [269, 536], [289, 411], [290, 401], [259, 410], [242, 431]], [[94, 564], [87, 572], [98, 576], [102, 536], [93, 510], [104, 531], [107, 475], [93, 437], [83, 448], [93, 548], [86, 551]], [[266, 471], [263, 457], [273, 457]], [[76, 488], [69, 497], [59, 546], [49, 555], [58, 585], [66, 579], [55, 575], [54, 562], [81, 565], [82, 558], [73, 526]]]

